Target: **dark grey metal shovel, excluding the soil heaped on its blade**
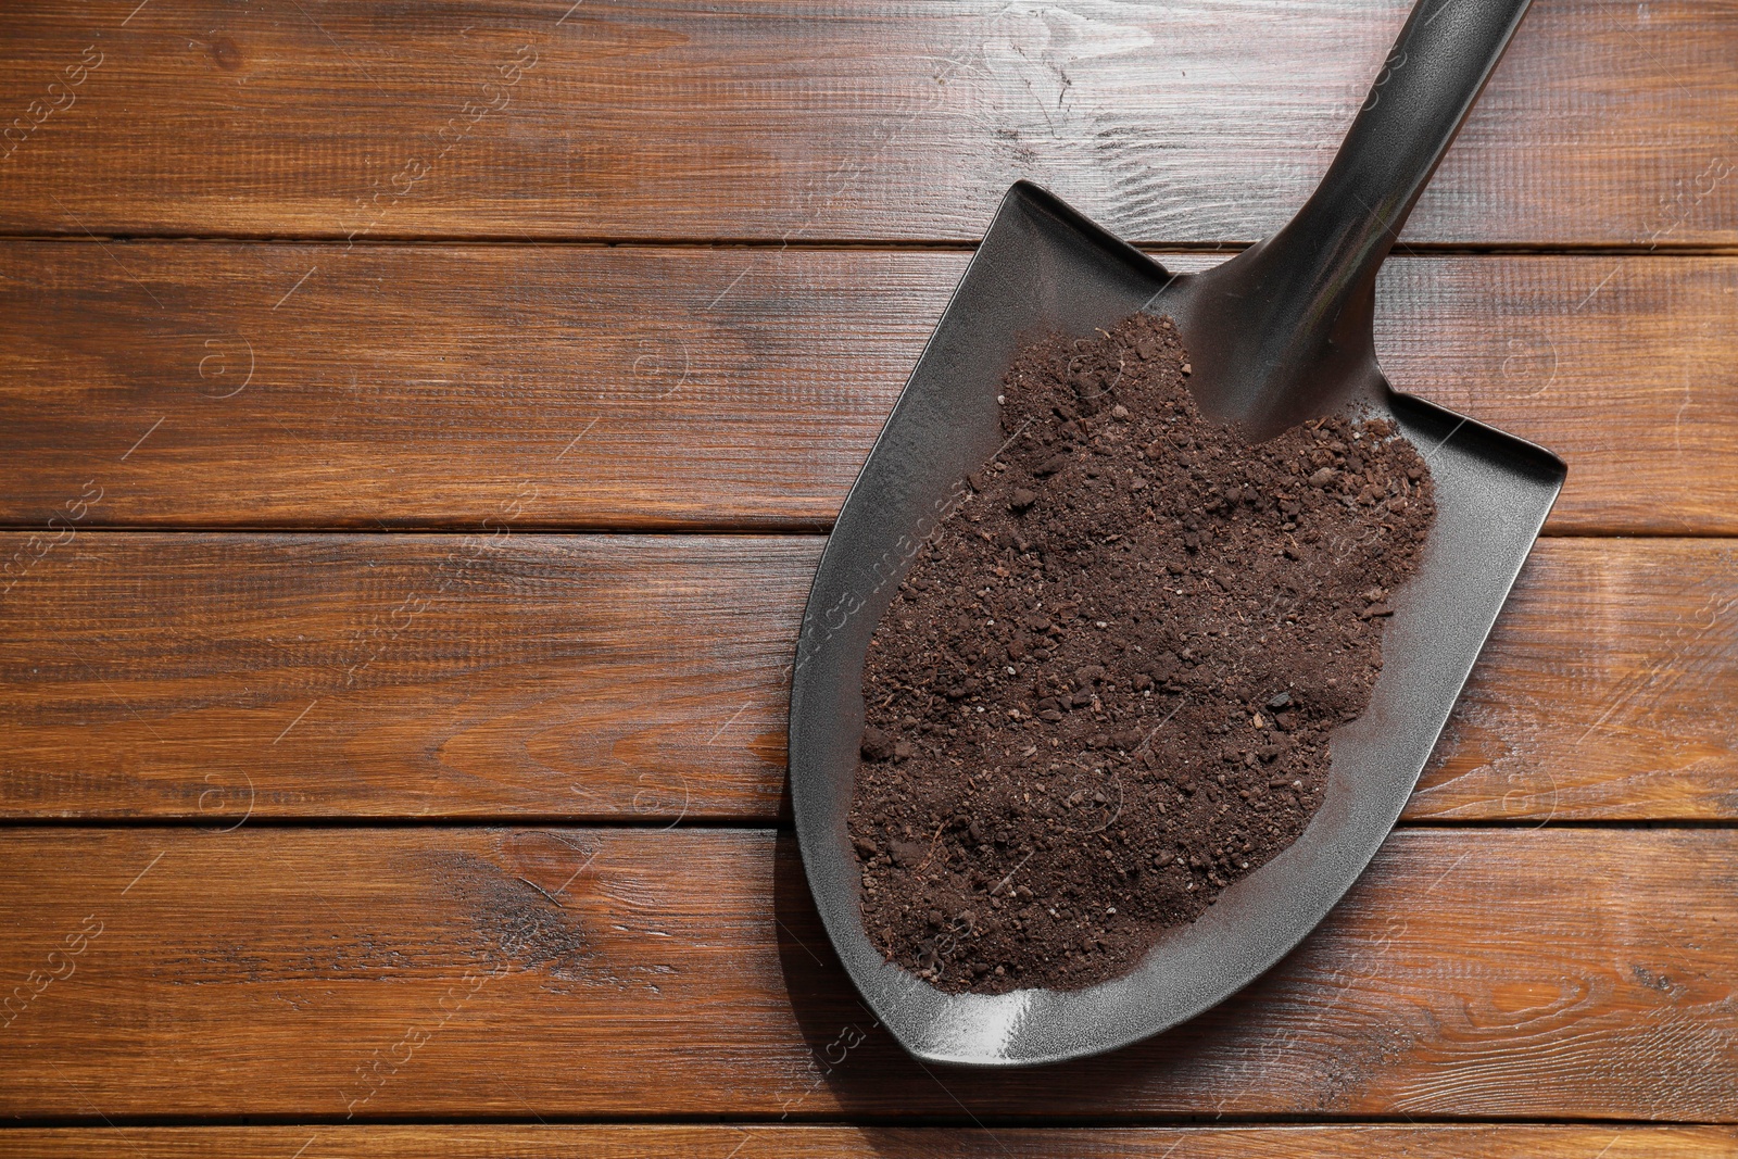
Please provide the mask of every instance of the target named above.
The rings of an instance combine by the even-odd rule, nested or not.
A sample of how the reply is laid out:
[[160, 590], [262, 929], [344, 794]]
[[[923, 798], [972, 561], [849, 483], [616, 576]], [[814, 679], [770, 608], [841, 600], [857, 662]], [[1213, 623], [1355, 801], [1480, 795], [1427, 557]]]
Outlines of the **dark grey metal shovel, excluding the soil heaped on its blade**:
[[[1540, 447], [1394, 391], [1376, 367], [1376, 269], [1514, 35], [1528, 0], [1422, 0], [1321, 186], [1267, 242], [1171, 275], [1050, 193], [1003, 198], [845, 499], [808, 594], [791, 681], [791, 803], [815, 905], [845, 970], [926, 1062], [1079, 1058], [1208, 1010], [1279, 961], [1394, 827], [1562, 487]], [[1331, 737], [1323, 805], [1284, 853], [1168, 931], [1133, 973], [1083, 990], [944, 994], [885, 961], [859, 911], [846, 834], [869, 638], [899, 580], [1001, 443], [1017, 346], [1170, 315], [1210, 419], [1251, 440], [1328, 414], [1387, 417], [1423, 454], [1437, 516], [1390, 599], [1368, 711]]]

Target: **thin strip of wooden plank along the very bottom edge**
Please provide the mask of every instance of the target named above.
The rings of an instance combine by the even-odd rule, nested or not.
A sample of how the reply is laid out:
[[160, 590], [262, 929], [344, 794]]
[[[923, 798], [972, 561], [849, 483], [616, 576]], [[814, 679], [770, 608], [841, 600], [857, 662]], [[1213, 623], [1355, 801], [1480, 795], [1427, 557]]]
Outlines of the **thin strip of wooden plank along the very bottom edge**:
[[[297, 1150], [302, 1149], [302, 1150]], [[1719, 1126], [249, 1126], [14, 1128], [0, 1157], [75, 1159], [1733, 1159]]]

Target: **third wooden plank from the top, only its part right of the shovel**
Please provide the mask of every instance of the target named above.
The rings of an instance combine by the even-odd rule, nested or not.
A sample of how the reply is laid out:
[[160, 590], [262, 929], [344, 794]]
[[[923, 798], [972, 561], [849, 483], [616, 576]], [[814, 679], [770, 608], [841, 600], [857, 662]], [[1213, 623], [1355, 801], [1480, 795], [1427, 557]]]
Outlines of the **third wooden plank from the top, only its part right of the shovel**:
[[1738, 817], [1735, 655], [1731, 540], [1540, 540], [1406, 817]]

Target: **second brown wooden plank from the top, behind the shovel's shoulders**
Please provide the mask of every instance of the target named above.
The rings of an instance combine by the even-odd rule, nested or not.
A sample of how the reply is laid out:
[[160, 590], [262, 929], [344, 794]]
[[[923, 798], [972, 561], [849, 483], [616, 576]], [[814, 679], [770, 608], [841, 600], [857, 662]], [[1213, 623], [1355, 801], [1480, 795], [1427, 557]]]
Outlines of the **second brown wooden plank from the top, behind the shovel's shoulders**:
[[[92, 525], [824, 528], [965, 261], [3, 243], [0, 521], [101, 488]], [[1738, 533], [1735, 290], [1738, 259], [1396, 259], [1378, 349], [1568, 459], [1550, 530]]]

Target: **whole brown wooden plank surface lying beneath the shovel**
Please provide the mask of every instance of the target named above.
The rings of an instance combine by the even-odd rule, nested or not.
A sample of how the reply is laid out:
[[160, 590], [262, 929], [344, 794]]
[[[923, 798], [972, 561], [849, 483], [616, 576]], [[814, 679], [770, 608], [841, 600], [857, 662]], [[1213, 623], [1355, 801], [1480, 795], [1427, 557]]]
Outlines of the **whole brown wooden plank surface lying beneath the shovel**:
[[801, 883], [799, 605], [1001, 191], [1222, 261], [1403, 19], [0, 9], [0, 1154], [1738, 1154], [1729, 3], [1538, 0], [1383, 273], [1571, 469], [1316, 935], [956, 1074]]

